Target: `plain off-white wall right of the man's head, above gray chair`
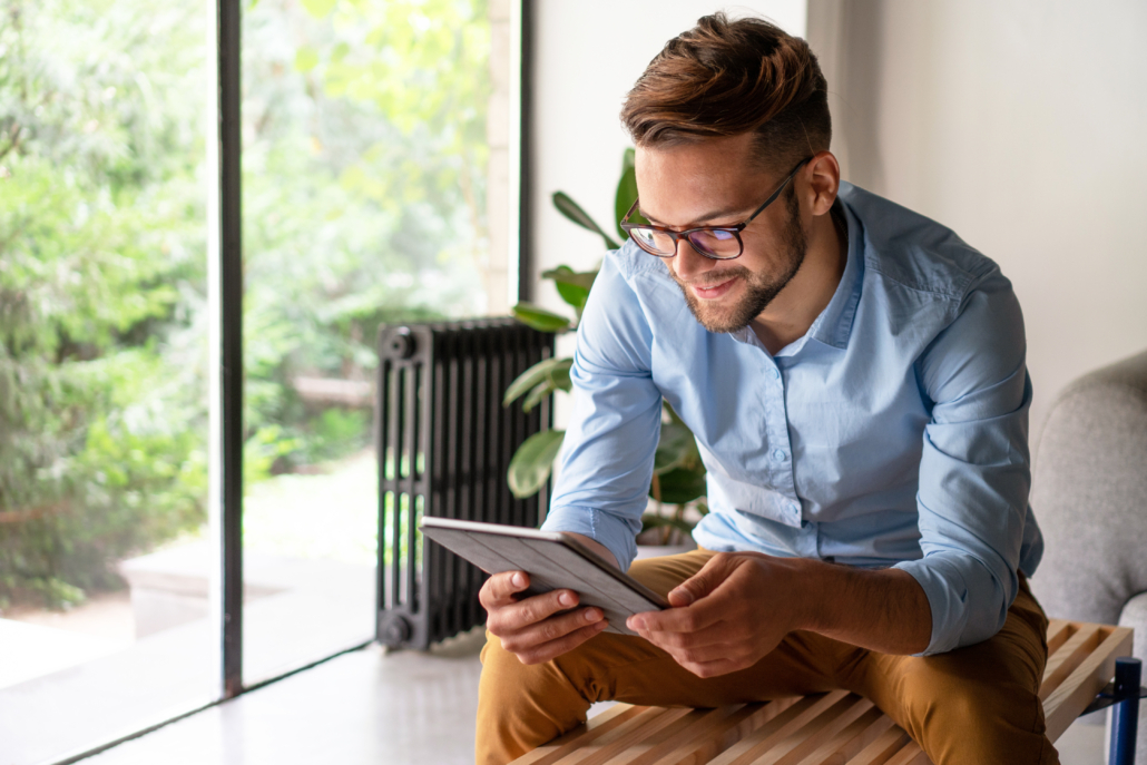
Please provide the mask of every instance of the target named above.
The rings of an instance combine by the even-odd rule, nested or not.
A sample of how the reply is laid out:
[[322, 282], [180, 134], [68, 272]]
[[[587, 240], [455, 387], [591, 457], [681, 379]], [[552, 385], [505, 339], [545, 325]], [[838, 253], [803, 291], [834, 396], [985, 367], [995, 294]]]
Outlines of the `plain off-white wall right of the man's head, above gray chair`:
[[810, 0], [845, 177], [1015, 284], [1033, 436], [1066, 383], [1147, 348], [1145, 38], [1141, 0]]

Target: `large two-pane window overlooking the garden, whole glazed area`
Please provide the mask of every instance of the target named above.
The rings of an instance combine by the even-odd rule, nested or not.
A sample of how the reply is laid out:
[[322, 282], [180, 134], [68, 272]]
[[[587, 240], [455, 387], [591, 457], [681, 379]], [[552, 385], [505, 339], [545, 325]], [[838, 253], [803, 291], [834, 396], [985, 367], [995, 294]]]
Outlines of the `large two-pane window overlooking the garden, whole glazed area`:
[[0, 0], [6, 764], [372, 639], [375, 335], [515, 298], [509, 5]]

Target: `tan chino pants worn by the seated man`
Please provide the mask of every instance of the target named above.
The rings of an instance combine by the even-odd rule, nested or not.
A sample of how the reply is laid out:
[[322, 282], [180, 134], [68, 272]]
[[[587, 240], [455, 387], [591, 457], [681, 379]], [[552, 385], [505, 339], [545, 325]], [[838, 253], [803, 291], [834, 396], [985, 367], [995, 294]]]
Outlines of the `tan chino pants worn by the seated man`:
[[[648, 559], [630, 573], [666, 594], [712, 555], [701, 549]], [[1055, 764], [1037, 695], [1046, 632], [1047, 618], [1021, 576], [996, 637], [938, 656], [890, 656], [794, 632], [756, 665], [702, 679], [642, 638], [601, 633], [551, 662], [526, 666], [487, 635], [477, 763], [516, 759], [585, 721], [598, 701], [704, 708], [843, 688], [871, 698], [936, 765]]]

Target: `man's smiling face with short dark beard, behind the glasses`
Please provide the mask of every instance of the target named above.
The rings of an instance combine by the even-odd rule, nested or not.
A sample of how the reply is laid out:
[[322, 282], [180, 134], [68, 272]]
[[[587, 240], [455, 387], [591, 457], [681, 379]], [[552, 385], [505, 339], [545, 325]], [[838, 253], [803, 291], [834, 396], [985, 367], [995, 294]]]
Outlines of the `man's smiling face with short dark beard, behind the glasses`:
[[[788, 173], [760, 169], [751, 162], [751, 150], [750, 134], [668, 149], [638, 148], [642, 214], [677, 231], [743, 221]], [[677, 256], [666, 260], [693, 315], [710, 331], [747, 327], [801, 268], [807, 242], [793, 189], [790, 182], [741, 232], [741, 257], [712, 260], [681, 240]]]

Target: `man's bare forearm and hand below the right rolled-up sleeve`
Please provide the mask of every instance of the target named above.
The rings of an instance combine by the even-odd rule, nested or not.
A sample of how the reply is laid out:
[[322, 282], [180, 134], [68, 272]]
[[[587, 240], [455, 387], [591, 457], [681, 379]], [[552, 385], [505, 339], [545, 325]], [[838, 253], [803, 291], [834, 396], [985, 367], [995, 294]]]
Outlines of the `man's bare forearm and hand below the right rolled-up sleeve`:
[[703, 678], [752, 666], [796, 630], [883, 654], [918, 654], [931, 637], [923, 588], [896, 569], [720, 553], [669, 602], [627, 625]]

